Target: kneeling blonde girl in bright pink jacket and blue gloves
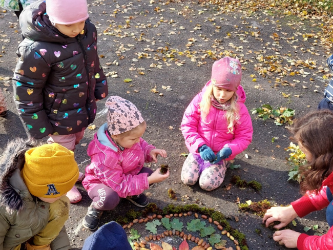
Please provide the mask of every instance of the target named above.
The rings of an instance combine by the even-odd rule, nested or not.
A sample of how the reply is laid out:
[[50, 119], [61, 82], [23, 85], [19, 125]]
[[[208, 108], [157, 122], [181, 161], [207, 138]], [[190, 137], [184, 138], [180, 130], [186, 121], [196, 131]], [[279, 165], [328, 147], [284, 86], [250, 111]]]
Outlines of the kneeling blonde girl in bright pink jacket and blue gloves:
[[212, 191], [225, 176], [228, 160], [252, 141], [252, 121], [244, 105], [239, 60], [223, 57], [213, 64], [212, 78], [186, 109], [181, 131], [190, 154], [181, 180]]

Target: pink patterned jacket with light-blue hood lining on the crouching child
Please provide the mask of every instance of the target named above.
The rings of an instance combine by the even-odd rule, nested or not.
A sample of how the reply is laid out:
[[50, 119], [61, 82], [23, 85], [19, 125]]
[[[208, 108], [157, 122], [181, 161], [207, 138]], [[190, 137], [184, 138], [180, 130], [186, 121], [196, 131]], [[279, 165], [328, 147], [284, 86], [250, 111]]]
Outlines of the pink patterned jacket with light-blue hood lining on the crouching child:
[[144, 162], [151, 162], [150, 152], [155, 149], [140, 138], [132, 148], [120, 151], [106, 133], [107, 123], [103, 124], [89, 143], [88, 155], [91, 163], [86, 168], [82, 185], [88, 193], [97, 184], [110, 186], [119, 197], [139, 195], [149, 189], [148, 174], [138, 174]]

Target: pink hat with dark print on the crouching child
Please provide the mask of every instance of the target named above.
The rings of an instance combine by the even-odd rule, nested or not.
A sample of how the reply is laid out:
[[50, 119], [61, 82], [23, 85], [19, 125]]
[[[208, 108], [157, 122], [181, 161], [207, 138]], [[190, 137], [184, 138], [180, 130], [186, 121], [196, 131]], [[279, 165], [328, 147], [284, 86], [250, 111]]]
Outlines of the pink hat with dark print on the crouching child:
[[144, 121], [135, 105], [120, 96], [110, 96], [105, 106], [108, 108], [108, 131], [111, 135], [130, 131]]

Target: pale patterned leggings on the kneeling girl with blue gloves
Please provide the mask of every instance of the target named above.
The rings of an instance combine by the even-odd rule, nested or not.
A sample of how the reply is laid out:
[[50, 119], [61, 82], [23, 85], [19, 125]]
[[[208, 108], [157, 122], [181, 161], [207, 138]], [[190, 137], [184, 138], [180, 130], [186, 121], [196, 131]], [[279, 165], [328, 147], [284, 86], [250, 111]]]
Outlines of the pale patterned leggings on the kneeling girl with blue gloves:
[[181, 170], [181, 181], [186, 185], [194, 185], [199, 180], [199, 186], [205, 191], [217, 189], [223, 182], [227, 161], [211, 164], [201, 159], [200, 155], [190, 153]]

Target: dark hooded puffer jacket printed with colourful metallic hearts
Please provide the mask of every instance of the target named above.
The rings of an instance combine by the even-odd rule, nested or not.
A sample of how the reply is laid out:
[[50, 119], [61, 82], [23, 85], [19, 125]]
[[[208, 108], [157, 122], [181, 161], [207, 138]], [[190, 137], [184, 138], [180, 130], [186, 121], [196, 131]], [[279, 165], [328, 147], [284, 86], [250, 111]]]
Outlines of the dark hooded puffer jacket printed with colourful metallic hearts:
[[41, 1], [19, 22], [26, 39], [18, 46], [13, 89], [26, 131], [39, 139], [85, 130], [96, 116], [95, 99], [108, 95], [96, 27], [88, 19], [79, 35], [68, 37], [52, 26]]

